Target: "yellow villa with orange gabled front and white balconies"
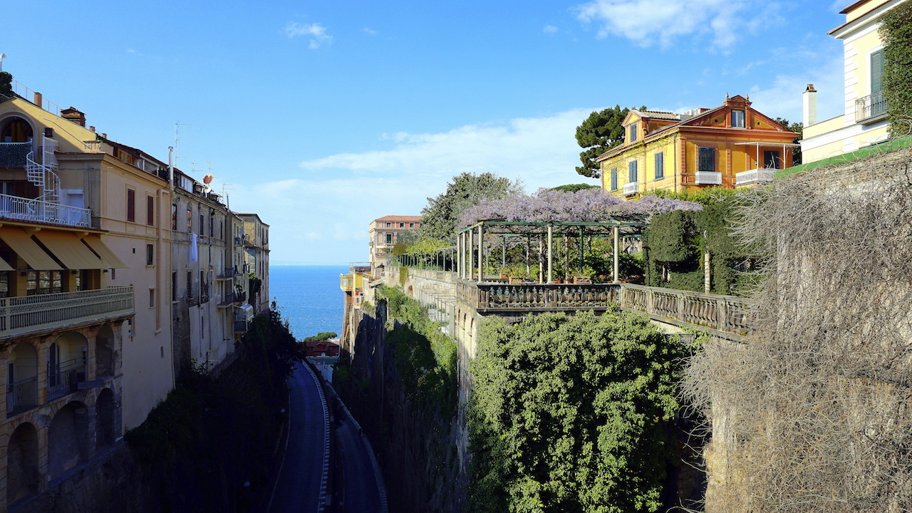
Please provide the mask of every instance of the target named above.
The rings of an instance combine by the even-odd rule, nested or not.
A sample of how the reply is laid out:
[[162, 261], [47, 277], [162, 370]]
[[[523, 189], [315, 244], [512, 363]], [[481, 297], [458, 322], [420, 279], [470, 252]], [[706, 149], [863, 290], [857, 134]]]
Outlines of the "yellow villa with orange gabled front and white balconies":
[[623, 196], [768, 183], [792, 165], [798, 135], [741, 96], [681, 114], [630, 110], [623, 126], [624, 143], [596, 159], [602, 188]]

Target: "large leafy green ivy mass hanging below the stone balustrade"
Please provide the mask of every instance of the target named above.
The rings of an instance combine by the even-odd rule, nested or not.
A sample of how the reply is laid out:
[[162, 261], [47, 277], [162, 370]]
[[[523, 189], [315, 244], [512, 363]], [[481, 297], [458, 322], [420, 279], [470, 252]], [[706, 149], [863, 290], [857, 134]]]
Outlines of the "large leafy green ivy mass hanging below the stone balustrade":
[[469, 509], [657, 511], [683, 351], [618, 310], [486, 319], [471, 367]]

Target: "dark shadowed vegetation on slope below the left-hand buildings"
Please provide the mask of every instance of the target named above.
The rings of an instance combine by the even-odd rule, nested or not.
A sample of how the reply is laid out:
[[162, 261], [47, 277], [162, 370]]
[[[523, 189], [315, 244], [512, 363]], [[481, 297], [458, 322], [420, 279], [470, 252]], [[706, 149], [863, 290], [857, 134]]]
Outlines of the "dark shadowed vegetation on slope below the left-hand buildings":
[[303, 352], [275, 305], [235, 351], [217, 377], [193, 369], [124, 435], [157, 484], [162, 511], [250, 511], [251, 489], [269, 479], [285, 378]]

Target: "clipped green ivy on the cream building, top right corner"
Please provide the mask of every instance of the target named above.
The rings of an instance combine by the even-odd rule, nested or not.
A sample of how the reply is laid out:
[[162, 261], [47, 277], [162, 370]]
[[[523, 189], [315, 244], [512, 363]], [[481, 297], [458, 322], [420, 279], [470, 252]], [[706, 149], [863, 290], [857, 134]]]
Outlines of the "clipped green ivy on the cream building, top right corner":
[[893, 137], [912, 132], [912, 4], [896, 5], [880, 26], [884, 40], [884, 95]]

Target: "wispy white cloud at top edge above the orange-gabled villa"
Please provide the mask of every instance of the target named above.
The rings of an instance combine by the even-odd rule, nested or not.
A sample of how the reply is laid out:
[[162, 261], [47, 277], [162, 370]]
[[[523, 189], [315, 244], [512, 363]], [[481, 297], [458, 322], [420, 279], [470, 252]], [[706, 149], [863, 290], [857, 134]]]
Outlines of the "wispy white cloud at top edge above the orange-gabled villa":
[[[626, 37], [663, 47], [679, 37], [710, 35], [727, 50], [744, 30], [768, 20], [776, 5], [764, 0], [594, 0], [576, 7], [577, 17], [599, 25], [598, 37]], [[766, 26], [769, 29], [769, 26]]]

